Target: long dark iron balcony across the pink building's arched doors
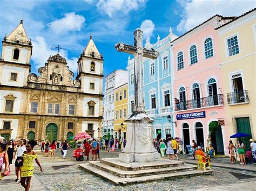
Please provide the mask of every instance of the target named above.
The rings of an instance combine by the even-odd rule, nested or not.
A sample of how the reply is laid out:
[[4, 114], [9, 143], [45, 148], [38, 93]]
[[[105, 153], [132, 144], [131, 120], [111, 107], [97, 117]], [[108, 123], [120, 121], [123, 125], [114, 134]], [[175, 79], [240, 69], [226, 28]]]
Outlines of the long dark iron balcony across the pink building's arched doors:
[[224, 105], [223, 94], [180, 102], [175, 104], [175, 110], [180, 111], [180, 110], [187, 110], [187, 109], [197, 109], [197, 108], [211, 107], [214, 105]]

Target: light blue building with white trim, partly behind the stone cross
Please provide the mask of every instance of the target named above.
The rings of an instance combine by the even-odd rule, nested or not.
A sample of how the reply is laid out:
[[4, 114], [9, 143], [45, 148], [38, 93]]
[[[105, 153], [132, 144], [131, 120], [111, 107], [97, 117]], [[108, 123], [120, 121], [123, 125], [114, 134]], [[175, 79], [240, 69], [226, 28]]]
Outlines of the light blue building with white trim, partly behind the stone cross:
[[[144, 102], [147, 115], [154, 119], [153, 138], [167, 138], [175, 135], [175, 124], [167, 120], [171, 116], [174, 121], [172, 78], [173, 68], [171, 68], [172, 47], [170, 42], [177, 38], [172, 33], [170, 27], [169, 35], [160, 40], [157, 37], [155, 44], [150, 44], [149, 38], [146, 40], [145, 48], [155, 49], [159, 52], [156, 60], [143, 58], [143, 90]], [[129, 115], [131, 115], [134, 105], [134, 60], [128, 60], [127, 70], [129, 71]]]

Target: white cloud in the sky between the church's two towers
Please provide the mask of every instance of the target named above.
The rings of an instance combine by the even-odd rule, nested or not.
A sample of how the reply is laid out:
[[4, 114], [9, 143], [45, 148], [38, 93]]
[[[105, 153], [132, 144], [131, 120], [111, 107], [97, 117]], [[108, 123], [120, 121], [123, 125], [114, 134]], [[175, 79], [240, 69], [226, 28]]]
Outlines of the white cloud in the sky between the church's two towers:
[[[32, 60], [35, 64], [35, 67], [38, 69], [39, 67], [44, 66], [44, 63], [47, 62], [50, 55], [57, 54], [57, 49], [52, 49], [50, 45], [48, 45], [43, 37], [37, 36], [35, 40], [32, 41], [33, 45], [33, 55]], [[63, 49], [60, 49], [59, 54], [63, 56], [68, 62], [69, 69], [73, 72], [77, 72], [77, 60], [78, 58], [72, 57], [68, 58], [68, 53]]]

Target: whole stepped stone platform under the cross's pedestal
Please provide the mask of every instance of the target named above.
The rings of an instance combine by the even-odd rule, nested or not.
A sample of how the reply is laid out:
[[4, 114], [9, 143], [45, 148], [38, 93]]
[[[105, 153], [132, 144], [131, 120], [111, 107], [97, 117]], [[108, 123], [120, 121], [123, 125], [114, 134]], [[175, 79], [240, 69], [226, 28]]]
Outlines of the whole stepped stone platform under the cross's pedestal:
[[118, 158], [108, 158], [90, 161], [89, 164], [82, 164], [79, 167], [115, 185], [212, 174], [212, 171], [197, 169], [195, 165], [168, 159], [153, 162], [122, 162]]

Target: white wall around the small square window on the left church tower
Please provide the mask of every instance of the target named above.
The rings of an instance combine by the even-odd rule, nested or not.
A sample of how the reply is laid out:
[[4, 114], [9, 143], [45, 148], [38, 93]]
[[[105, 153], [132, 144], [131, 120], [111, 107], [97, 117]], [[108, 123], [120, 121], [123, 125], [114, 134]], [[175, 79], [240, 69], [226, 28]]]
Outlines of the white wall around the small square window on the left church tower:
[[[10, 81], [11, 73], [17, 73], [17, 81]], [[28, 79], [25, 74], [26, 68], [4, 65], [2, 69], [1, 84], [6, 86], [23, 87], [24, 85], [26, 85], [26, 80]]]

